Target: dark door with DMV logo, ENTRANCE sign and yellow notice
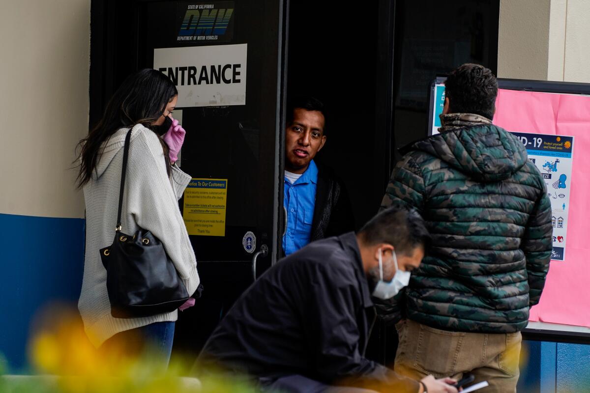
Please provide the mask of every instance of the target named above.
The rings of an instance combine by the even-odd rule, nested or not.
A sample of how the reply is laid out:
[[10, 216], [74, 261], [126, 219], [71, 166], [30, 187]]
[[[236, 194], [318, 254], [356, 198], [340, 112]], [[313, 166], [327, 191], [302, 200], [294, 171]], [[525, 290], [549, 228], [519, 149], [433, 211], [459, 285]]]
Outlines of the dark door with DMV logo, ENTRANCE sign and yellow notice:
[[176, 325], [183, 352], [198, 352], [253, 282], [254, 258], [260, 276], [280, 255], [284, 9], [267, 0], [93, 3], [91, 90], [101, 99], [91, 120], [137, 69], [160, 69], [179, 89], [179, 161], [194, 178], [180, 207], [204, 285]]

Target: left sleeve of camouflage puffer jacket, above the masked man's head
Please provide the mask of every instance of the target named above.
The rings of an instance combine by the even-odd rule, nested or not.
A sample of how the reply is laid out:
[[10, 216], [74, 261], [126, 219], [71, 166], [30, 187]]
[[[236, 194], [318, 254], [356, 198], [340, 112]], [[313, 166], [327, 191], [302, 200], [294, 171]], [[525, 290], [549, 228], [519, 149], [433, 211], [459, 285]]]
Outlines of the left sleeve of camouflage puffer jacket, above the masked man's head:
[[409, 153], [395, 166], [387, 184], [381, 209], [394, 204], [406, 204], [422, 212], [424, 207], [424, 178], [413, 153]]

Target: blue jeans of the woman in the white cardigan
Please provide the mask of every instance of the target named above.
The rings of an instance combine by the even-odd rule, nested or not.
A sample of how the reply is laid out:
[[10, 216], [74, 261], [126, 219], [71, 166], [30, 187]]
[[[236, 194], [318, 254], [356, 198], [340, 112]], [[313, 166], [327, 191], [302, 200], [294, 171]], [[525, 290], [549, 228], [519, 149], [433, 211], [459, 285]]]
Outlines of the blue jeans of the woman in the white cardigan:
[[100, 346], [99, 351], [123, 348], [126, 355], [149, 354], [157, 356], [158, 362], [168, 368], [174, 341], [176, 322], [155, 322], [141, 328], [117, 333]]

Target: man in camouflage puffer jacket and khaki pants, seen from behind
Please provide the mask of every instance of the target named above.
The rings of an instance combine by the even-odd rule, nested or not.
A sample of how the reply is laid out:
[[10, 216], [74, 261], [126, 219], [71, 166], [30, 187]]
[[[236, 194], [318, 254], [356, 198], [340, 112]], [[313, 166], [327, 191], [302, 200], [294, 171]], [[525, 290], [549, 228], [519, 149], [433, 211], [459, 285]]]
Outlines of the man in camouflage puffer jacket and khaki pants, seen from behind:
[[445, 82], [441, 134], [417, 141], [394, 169], [382, 209], [421, 212], [432, 246], [412, 272], [396, 325], [395, 371], [487, 380], [516, 391], [520, 331], [539, 302], [552, 249], [545, 181], [512, 134], [491, 124], [497, 81], [464, 64]]

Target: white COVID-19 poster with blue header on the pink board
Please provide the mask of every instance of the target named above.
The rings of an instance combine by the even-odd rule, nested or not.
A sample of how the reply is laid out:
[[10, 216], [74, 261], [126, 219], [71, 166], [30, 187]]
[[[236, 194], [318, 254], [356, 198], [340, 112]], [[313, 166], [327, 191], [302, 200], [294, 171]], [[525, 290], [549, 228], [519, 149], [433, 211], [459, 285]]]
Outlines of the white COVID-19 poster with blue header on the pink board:
[[573, 137], [562, 135], [523, 134], [516, 135], [540, 171], [547, 195], [551, 201], [551, 224], [553, 226], [552, 260], [565, 260], [568, 233], [569, 190], [572, 181]]

